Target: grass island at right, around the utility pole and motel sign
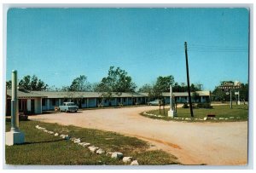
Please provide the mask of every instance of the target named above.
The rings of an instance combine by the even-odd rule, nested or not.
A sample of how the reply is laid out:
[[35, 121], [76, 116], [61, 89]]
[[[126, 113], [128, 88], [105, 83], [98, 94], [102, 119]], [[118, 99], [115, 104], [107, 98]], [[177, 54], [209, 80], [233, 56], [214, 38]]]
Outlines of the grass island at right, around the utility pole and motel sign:
[[[148, 111], [147, 113], [152, 113], [154, 115], [161, 115], [164, 117], [154, 117], [154, 116], [148, 116], [141, 113], [141, 115], [146, 116], [148, 118], [158, 118], [158, 119], [164, 119], [164, 120], [178, 120], [174, 118], [167, 117], [169, 109], [164, 110], [161, 109], [155, 109], [153, 111]], [[207, 121], [212, 122], [219, 122], [219, 121], [245, 121], [248, 118], [248, 107], [247, 105], [235, 105], [232, 109], [230, 109], [229, 105], [223, 105], [223, 106], [213, 106], [212, 109], [204, 109], [204, 108], [195, 108], [193, 109], [194, 112], [194, 118], [205, 118], [207, 117], [207, 114], [215, 114], [216, 118], [229, 118], [224, 120], [214, 120], [209, 119]], [[233, 117], [230, 119], [230, 117]], [[190, 109], [189, 108], [177, 108], [177, 118], [191, 118], [190, 116]], [[189, 121], [195, 121], [195, 119], [191, 119]]]

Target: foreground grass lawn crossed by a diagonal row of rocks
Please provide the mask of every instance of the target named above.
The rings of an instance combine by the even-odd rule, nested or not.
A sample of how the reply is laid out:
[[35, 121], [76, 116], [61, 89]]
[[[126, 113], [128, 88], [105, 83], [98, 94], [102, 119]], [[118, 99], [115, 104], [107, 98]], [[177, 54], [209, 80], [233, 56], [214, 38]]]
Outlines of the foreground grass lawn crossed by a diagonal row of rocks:
[[[118, 133], [103, 130], [91, 130], [59, 124], [46, 124], [36, 121], [21, 121], [20, 130], [25, 133], [26, 143], [6, 146], [6, 164], [124, 164], [122, 160], [111, 159], [105, 154], [90, 153], [86, 147], [81, 147], [60, 136], [53, 136], [35, 128], [36, 125], [45, 127], [81, 141], [90, 142], [106, 152], [121, 152], [124, 156], [137, 159], [139, 164], [179, 164], [172, 154], [161, 150], [148, 150], [146, 141], [135, 137], [121, 136]], [[6, 131], [10, 130], [10, 122], [6, 123]]]

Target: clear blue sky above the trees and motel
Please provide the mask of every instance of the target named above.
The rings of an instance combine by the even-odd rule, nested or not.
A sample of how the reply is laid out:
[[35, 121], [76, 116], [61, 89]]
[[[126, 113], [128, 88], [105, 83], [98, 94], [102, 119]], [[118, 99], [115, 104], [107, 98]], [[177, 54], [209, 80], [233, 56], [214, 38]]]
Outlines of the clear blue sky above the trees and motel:
[[119, 66], [138, 87], [158, 76], [214, 89], [248, 78], [247, 9], [9, 9], [7, 80], [37, 75], [49, 86], [79, 75], [100, 82]]

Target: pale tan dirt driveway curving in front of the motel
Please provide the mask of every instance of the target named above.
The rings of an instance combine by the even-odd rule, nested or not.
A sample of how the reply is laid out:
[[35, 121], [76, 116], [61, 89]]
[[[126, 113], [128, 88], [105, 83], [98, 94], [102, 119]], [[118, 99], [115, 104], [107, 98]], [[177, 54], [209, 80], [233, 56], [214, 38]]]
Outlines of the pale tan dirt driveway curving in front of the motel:
[[136, 136], [175, 155], [182, 164], [247, 164], [247, 122], [185, 123], [145, 118], [157, 107], [124, 107], [42, 114], [31, 119]]

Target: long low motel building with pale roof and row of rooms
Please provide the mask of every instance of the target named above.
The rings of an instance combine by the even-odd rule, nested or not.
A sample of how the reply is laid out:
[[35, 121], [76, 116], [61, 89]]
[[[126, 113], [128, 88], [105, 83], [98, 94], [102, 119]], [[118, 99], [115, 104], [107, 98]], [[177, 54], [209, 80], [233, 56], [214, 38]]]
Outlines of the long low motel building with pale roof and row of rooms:
[[[196, 91], [199, 102], [210, 101], [210, 91]], [[173, 93], [177, 103], [189, 102], [187, 92]], [[6, 115], [10, 115], [11, 89], [7, 89]], [[163, 93], [166, 104], [170, 103], [170, 93]], [[111, 99], [102, 97], [98, 92], [71, 92], [71, 91], [29, 91], [18, 90], [19, 112], [27, 114], [40, 114], [44, 111], [54, 110], [65, 101], [73, 101], [80, 108], [90, 107], [115, 107], [119, 105], [146, 105], [150, 99], [148, 93], [122, 93], [113, 94]]]

